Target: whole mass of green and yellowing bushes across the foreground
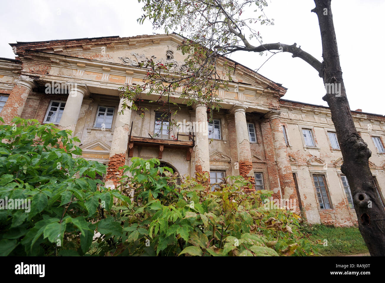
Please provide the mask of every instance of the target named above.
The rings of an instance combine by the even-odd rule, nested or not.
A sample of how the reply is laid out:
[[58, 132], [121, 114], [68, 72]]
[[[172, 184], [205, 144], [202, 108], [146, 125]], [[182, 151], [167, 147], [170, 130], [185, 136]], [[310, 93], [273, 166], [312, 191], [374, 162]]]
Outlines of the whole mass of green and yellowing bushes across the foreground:
[[72, 157], [81, 150], [70, 132], [36, 120], [14, 122], [0, 126], [0, 196], [31, 206], [0, 209], [0, 255], [318, 253], [301, 233], [298, 215], [263, 204], [271, 191], [245, 194], [251, 184], [240, 176], [211, 192], [202, 185], [206, 175], [179, 186], [159, 160], [134, 157], [123, 167], [120, 190], [108, 190], [95, 179], [105, 166]]

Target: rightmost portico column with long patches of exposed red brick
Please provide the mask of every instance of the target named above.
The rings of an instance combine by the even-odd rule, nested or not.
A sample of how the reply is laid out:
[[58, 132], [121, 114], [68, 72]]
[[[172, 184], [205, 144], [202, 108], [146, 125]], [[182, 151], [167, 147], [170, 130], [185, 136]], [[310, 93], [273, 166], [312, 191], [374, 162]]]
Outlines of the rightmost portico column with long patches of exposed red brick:
[[274, 151], [277, 159], [278, 174], [280, 176], [280, 184], [282, 196], [284, 199], [293, 199], [296, 201], [296, 211], [299, 211], [298, 198], [291, 171], [290, 159], [283, 137], [280, 112], [270, 111], [266, 117], [270, 120], [271, 131], [273, 132]]

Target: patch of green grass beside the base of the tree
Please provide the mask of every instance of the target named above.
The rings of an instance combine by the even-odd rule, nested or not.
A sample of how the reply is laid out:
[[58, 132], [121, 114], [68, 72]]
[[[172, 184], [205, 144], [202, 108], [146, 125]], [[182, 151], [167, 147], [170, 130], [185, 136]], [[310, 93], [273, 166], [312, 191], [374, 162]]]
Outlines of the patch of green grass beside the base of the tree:
[[358, 253], [368, 253], [368, 248], [357, 227], [335, 227], [313, 224], [304, 225], [302, 232], [308, 234], [312, 241], [326, 243], [327, 246], [319, 244], [318, 250], [323, 256], [344, 256]]

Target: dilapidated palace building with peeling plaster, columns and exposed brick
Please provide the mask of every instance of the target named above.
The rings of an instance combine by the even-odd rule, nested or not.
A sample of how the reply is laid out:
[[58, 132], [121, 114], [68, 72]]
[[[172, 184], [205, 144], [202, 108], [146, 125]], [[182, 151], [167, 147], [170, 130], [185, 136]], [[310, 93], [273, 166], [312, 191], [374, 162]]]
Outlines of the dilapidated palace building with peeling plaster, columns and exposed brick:
[[[153, 95], [141, 98], [148, 109], [143, 118], [131, 110], [118, 114], [119, 87], [145, 77], [140, 62], [153, 58], [173, 62], [176, 71], [183, 67], [181, 41], [169, 34], [10, 44], [17, 57], [0, 59], [0, 116], [8, 124], [20, 116], [72, 130], [82, 157], [108, 165], [110, 185], [131, 157], [156, 157], [181, 178], [196, 171], [210, 172], [211, 183], [253, 177], [256, 189], [294, 199], [309, 223], [357, 223], [328, 107], [282, 99], [285, 87], [240, 64], [228, 89], [218, 90], [222, 108], [209, 122], [209, 134], [173, 129], [172, 137], [158, 106], [149, 103]], [[173, 95], [181, 109], [175, 119], [206, 123], [206, 106], [187, 106], [179, 96]], [[370, 168], [384, 201], [385, 117], [360, 109], [352, 115], [372, 151]]]

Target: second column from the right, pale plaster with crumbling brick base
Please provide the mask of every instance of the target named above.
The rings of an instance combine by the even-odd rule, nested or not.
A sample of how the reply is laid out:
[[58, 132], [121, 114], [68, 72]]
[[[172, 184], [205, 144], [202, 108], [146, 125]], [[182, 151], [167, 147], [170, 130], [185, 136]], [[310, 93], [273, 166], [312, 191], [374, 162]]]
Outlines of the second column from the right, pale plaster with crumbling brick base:
[[[235, 117], [235, 130], [237, 137], [239, 174], [243, 178], [248, 179], [254, 186], [254, 170], [253, 161], [251, 160], [249, 132], [246, 123], [246, 107], [236, 105], [233, 108], [233, 111]], [[245, 191], [255, 191], [255, 188], [245, 188]]]

